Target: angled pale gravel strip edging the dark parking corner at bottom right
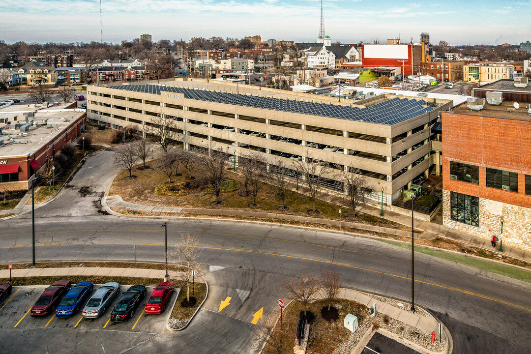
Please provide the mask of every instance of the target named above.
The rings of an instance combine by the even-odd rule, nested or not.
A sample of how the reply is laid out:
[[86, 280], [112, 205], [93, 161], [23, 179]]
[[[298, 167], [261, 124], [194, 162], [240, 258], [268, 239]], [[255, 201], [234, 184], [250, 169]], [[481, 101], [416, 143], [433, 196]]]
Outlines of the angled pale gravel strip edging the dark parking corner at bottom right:
[[433, 352], [442, 352], [444, 350], [445, 342], [439, 342], [438, 339], [434, 343], [431, 342], [431, 334], [422, 332], [413, 326], [395, 320], [383, 314], [376, 314], [376, 317], [366, 316], [362, 323], [358, 324], [358, 329], [350, 335], [348, 340], [339, 344], [333, 354], [350, 354], [356, 347], [356, 344], [363, 337], [363, 335], [376, 324], [378, 327], [394, 333], [399, 338], [413, 342], [422, 348], [431, 350]]

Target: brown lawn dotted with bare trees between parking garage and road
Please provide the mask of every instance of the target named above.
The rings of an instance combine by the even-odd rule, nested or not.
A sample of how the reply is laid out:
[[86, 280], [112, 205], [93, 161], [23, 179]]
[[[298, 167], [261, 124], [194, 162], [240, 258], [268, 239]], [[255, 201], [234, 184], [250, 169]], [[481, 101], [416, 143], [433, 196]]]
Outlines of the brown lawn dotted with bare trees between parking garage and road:
[[[201, 158], [198, 155], [198, 158]], [[172, 207], [183, 208], [212, 208], [212, 202], [214, 198], [209, 195], [205, 195], [203, 188], [187, 189], [186, 193], [161, 193], [167, 191], [169, 188], [168, 177], [161, 171], [155, 168], [156, 161], [150, 161], [147, 165], [150, 167], [145, 170], [138, 169], [141, 164], [136, 165], [133, 168], [132, 174], [134, 179], [125, 179], [129, 177], [128, 171], [122, 171], [114, 179], [113, 185], [109, 189], [109, 195], [119, 195], [124, 201], [143, 204], [143, 205], [164, 205]], [[193, 171], [193, 176], [204, 176], [205, 172], [200, 168]], [[188, 173], [181, 167], [179, 168], [179, 176], [172, 176], [172, 185], [176, 187], [174, 189], [182, 189], [182, 185], [187, 181]], [[308, 211], [313, 209], [312, 201], [310, 198], [302, 193], [294, 191], [288, 191], [286, 197], [287, 211], [279, 210], [282, 205], [280, 199], [276, 196], [275, 187], [262, 183], [262, 189], [256, 197], [256, 203], [258, 206], [252, 207], [252, 196], [244, 195], [243, 178], [235, 174], [233, 171], [226, 171], [226, 177], [239, 182], [239, 187], [232, 192], [226, 192], [221, 194], [222, 204], [215, 206], [216, 209], [236, 209], [236, 210], [256, 210], [256, 211], [268, 211], [275, 213], [286, 213], [296, 215], [309, 215]], [[299, 181], [300, 182], [300, 181]], [[157, 189], [157, 193], [156, 192]], [[299, 183], [299, 189], [304, 190], [304, 187]], [[182, 192], [182, 191], [181, 191]], [[336, 204], [318, 201], [315, 204], [318, 215], [312, 215], [319, 218], [336, 219], [339, 220], [338, 210], [340, 207]], [[354, 213], [347, 212], [343, 208], [344, 213], [341, 217], [343, 221], [364, 222], [373, 223], [375, 225], [386, 227], [399, 228], [400, 225], [378, 217], [372, 217], [370, 215], [359, 214], [358, 217], [354, 217]]]

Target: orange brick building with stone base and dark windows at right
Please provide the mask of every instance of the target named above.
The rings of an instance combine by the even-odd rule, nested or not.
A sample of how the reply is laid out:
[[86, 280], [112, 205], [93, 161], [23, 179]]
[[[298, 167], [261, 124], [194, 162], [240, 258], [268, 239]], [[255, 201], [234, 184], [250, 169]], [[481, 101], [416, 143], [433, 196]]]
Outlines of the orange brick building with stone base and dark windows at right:
[[487, 241], [503, 235], [504, 245], [531, 251], [527, 107], [461, 105], [442, 113], [442, 129], [443, 225]]

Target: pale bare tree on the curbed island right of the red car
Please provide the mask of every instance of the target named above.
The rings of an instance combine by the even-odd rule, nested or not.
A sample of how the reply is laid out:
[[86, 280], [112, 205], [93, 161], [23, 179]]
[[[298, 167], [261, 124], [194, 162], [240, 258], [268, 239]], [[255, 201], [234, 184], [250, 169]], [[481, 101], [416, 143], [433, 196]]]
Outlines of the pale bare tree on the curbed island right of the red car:
[[175, 247], [168, 251], [168, 259], [175, 270], [178, 270], [181, 279], [186, 282], [186, 300], [190, 303], [190, 283], [194, 286], [194, 278], [205, 273], [205, 267], [199, 263], [201, 248], [198, 240], [190, 234], [181, 234], [181, 240]]

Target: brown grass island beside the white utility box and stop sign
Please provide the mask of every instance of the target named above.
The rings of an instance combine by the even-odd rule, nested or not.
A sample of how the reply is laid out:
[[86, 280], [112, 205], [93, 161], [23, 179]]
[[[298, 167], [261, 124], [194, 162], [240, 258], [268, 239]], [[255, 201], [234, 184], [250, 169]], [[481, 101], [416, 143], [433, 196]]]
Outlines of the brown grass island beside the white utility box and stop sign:
[[[328, 307], [328, 300], [319, 300], [310, 304], [306, 312], [310, 311], [314, 315], [314, 322], [310, 325], [310, 339], [308, 341], [308, 347], [306, 349], [307, 354], [313, 353], [331, 353], [338, 348], [341, 342], [346, 341], [350, 334], [343, 326], [343, 320], [347, 314], [353, 314], [358, 317], [358, 322], [361, 322], [363, 318], [369, 314], [369, 309], [362, 304], [356, 303], [347, 299], [336, 299], [333, 304], [339, 304], [342, 309], [338, 309], [339, 317], [335, 321], [326, 321], [321, 316], [321, 309], [324, 306]], [[299, 320], [299, 314], [304, 310], [304, 306], [298, 301], [293, 301], [282, 314], [282, 327], [286, 330], [288, 348], [285, 351], [286, 354], [293, 353], [293, 346], [296, 341], [297, 324]], [[260, 322], [259, 322], [260, 324]], [[280, 330], [280, 321], [278, 321], [275, 331]], [[293, 343], [293, 344], [291, 344]], [[284, 353], [283, 353], [284, 354]]]

